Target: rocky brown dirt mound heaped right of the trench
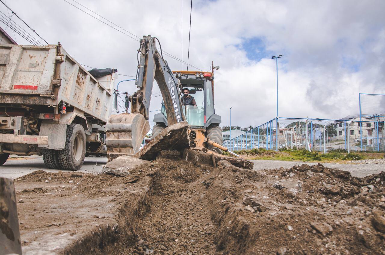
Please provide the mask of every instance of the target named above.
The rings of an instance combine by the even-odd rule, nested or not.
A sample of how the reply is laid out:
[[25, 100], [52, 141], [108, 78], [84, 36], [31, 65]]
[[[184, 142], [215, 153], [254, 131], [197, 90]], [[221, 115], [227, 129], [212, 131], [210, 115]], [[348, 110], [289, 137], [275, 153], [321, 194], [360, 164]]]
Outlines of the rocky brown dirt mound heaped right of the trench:
[[383, 183], [377, 177], [367, 190], [369, 179], [321, 164], [257, 173], [219, 167], [205, 181], [217, 247], [229, 254], [382, 254]]

